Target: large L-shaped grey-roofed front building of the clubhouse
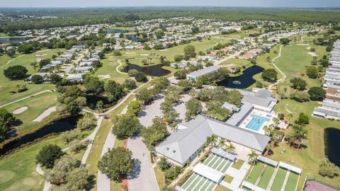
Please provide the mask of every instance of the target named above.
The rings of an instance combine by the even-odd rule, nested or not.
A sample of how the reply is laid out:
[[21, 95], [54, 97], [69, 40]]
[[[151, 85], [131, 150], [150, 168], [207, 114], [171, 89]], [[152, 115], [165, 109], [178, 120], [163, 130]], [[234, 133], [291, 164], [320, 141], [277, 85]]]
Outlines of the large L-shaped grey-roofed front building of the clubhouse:
[[212, 134], [231, 141], [239, 150], [249, 152], [254, 150], [259, 154], [266, 149], [271, 139], [264, 134], [198, 115], [194, 120], [181, 124], [181, 129], [157, 145], [155, 151], [171, 163], [184, 166], [188, 161], [196, 158], [196, 154], [203, 149], [207, 137]]

